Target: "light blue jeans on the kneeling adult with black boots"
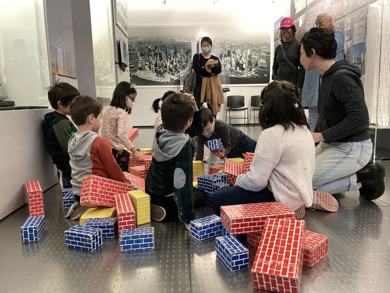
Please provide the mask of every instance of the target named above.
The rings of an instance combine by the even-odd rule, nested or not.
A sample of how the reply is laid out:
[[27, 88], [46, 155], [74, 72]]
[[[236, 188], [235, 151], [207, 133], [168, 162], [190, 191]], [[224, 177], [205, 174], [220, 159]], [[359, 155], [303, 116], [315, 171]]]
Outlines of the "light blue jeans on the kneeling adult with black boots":
[[356, 189], [356, 172], [372, 155], [370, 139], [349, 143], [324, 143], [316, 147], [313, 190], [335, 194]]

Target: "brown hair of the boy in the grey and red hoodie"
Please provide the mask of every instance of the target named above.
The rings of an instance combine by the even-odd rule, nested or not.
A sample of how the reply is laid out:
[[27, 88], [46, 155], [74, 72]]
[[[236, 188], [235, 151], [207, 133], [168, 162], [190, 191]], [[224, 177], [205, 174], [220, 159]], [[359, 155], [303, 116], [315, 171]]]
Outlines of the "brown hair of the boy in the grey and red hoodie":
[[90, 96], [76, 96], [70, 107], [72, 120], [77, 126], [85, 124], [90, 114], [97, 118], [102, 110], [101, 102]]

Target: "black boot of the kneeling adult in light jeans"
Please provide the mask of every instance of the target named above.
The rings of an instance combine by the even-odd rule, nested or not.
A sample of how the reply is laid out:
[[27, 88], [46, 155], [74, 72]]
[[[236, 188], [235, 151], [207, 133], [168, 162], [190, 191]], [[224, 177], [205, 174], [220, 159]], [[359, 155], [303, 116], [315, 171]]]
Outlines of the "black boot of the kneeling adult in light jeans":
[[374, 200], [385, 192], [385, 167], [382, 163], [368, 164], [357, 172], [358, 180], [362, 183], [360, 196]]

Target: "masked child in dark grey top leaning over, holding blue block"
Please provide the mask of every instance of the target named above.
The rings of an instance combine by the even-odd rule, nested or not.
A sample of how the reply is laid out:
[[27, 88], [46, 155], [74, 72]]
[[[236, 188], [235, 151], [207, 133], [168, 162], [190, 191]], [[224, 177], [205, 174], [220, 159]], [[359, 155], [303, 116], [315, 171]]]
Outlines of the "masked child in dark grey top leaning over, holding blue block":
[[204, 145], [213, 139], [219, 139], [223, 144], [223, 150], [211, 151], [211, 154], [219, 158], [243, 158], [243, 153], [255, 152], [256, 141], [246, 136], [241, 130], [223, 122], [215, 120], [210, 109], [203, 108], [203, 133], [197, 137], [197, 154], [196, 160], [201, 160], [204, 153]]

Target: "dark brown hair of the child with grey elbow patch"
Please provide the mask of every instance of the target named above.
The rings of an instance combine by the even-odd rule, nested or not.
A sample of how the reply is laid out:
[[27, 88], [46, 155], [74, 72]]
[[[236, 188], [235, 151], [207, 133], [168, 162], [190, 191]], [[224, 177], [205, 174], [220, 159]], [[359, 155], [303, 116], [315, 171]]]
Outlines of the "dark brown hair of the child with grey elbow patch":
[[174, 93], [161, 105], [161, 120], [166, 129], [180, 131], [188, 119], [193, 118], [194, 111], [193, 102], [188, 96]]

